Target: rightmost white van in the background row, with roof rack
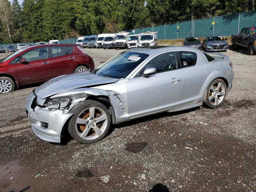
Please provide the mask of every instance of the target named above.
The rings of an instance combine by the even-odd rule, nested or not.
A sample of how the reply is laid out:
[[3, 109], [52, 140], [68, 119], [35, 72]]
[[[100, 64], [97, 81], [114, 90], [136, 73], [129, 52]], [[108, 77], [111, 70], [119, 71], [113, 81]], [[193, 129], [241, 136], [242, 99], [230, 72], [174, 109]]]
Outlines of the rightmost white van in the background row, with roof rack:
[[157, 45], [157, 32], [141, 33], [139, 38], [139, 47]]

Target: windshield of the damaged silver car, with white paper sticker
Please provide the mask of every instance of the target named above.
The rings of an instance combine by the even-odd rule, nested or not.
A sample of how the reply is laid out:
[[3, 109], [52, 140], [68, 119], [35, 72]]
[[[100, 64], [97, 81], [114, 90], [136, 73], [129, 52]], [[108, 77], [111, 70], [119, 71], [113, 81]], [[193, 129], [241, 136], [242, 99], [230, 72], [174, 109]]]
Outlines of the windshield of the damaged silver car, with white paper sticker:
[[148, 54], [144, 53], [122, 52], [96, 70], [92, 70], [92, 73], [110, 78], [126, 78], [147, 57]]

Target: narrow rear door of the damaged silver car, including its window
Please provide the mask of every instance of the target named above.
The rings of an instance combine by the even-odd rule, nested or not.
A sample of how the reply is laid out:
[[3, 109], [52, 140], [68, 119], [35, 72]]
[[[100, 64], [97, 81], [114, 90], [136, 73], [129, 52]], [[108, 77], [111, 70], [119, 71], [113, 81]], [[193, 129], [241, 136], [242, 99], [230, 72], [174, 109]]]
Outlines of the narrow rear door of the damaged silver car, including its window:
[[195, 51], [180, 50], [181, 70], [184, 74], [184, 84], [180, 97], [180, 105], [191, 104], [198, 100], [199, 92], [204, 82], [204, 66]]

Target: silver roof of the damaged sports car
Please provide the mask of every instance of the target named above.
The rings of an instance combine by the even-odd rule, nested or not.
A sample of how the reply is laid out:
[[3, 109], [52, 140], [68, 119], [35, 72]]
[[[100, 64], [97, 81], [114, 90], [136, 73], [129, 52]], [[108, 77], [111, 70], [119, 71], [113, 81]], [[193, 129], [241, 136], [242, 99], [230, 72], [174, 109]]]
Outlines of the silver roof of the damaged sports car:
[[126, 52], [136, 52], [136, 53], [144, 53], [144, 54], [157, 54], [163, 51], [168, 50], [177, 50], [177, 49], [185, 49], [185, 50], [197, 50], [195, 48], [190, 48], [186, 46], [148, 46], [143, 48], [132, 48], [127, 50]]

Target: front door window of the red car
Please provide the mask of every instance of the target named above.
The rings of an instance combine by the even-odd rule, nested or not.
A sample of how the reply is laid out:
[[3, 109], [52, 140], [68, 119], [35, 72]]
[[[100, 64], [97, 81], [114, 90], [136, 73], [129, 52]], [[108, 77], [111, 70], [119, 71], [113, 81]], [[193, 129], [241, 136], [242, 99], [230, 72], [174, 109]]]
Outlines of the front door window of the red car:
[[28, 52], [22, 54], [22, 58], [25, 58], [26, 61], [36, 61], [48, 58], [47, 47], [40, 47], [36, 49], [29, 50]]

